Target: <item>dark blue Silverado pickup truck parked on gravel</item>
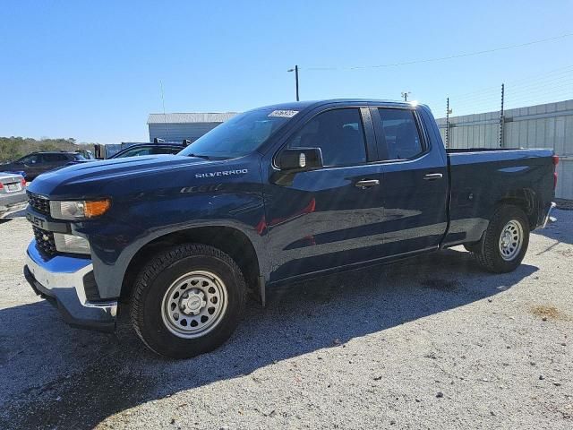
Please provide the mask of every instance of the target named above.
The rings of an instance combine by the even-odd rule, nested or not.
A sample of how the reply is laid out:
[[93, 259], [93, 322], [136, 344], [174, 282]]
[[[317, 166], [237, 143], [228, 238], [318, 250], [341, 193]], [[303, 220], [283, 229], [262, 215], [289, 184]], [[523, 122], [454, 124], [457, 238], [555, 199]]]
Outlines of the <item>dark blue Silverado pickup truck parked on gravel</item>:
[[[540, 142], [543, 144], [543, 142]], [[325, 100], [235, 116], [178, 155], [39, 176], [24, 272], [73, 326], [129, 313], [158, 354], [217, 348], [248, 293], [465, 245], [513, 271], [552, 210], [552, 150], [445, 150], [428, 107]]]

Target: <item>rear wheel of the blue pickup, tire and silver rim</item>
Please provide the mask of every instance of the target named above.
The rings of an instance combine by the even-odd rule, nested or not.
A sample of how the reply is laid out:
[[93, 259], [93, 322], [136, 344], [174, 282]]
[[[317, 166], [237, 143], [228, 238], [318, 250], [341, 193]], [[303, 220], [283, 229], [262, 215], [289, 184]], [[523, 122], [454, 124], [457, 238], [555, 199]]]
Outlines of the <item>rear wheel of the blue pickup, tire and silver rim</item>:
[[529, 223], [524, 211], [516, 206], [500, 206], [473, 252], [487, 271], [506, 273], [521, 264], [527, 245]]

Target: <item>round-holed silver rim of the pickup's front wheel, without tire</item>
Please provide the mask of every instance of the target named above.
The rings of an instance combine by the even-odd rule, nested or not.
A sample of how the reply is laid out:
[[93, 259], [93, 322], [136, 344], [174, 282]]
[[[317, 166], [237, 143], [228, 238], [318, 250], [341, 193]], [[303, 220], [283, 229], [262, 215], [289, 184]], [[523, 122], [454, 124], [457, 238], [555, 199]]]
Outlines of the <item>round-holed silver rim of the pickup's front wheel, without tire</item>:
[[185, 339], [213, 330], [227, 311], [227, 287], [210, 271], [190, 271], [163, 296], [161, 317], [167, 329]]

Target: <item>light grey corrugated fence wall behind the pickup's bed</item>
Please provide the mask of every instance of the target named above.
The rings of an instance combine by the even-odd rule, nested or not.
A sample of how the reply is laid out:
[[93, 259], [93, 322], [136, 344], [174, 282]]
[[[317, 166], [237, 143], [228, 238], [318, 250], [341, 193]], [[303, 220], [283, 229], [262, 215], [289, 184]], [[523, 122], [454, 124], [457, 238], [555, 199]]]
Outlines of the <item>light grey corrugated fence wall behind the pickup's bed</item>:
[[[573, 200], [573, 100], [506, 110], [503, 148], [551, 148], [560, 156], [556, 197]], [[446, 118], [439, 118], [446, 140]], [[450, 148], [499, 148], [500, 112], [449, 117]]]

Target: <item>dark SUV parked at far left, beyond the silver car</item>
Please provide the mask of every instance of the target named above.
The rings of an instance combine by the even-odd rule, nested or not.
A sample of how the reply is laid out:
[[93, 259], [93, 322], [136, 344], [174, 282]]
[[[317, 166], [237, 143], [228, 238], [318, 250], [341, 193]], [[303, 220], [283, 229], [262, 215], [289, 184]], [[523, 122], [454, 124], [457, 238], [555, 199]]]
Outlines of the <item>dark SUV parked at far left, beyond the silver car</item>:
[[26, 180], [31, 181], [44, 172], [85, 161], [87, 161], [85, 157], [77, 152], [49, 150], [32, 152], [21, 159], [2, 164], [0, 170], [3, 172], [23, 172]]

